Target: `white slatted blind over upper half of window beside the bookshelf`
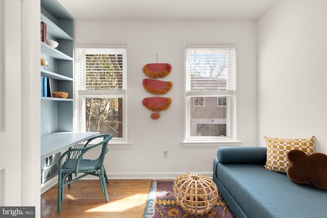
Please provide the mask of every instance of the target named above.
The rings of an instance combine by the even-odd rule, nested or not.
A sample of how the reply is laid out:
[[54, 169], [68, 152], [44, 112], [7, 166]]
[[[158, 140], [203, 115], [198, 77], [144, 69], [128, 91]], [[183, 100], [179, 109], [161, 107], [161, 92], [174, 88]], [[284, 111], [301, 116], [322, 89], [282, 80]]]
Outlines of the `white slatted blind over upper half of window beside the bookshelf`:
[[77, 49], [79, 90], [125, 90], [126, 49]]

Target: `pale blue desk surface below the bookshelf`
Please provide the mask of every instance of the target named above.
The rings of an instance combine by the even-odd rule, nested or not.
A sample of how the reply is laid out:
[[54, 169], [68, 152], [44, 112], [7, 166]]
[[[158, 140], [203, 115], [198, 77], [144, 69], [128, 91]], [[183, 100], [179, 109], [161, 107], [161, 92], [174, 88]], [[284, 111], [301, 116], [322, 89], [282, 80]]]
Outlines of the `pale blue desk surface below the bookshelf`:
[[58, 132], [42, 135], [41, 160], [99, 134], [99, 132]]

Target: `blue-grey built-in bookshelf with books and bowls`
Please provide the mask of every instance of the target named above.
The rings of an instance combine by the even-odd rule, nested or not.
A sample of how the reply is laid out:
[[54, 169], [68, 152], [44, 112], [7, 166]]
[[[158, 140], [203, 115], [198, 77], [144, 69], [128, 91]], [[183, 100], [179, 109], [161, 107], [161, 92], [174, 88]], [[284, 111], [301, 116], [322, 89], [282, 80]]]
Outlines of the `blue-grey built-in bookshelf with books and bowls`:
[[[41, 58], [51, 67], [42, 66], [40, 77], [49, 78], [52, 91], [68, 93], [66, 99], [52, 98], [49, 92], [41, 101], [41, 139], [57, 132], [73, 131], [74, 112], [74, 20], [56, 0], [41, 0], [41, 22], [46, 23], [46, 39], [59, 43], [54, 48], [42, 41]], [[44, 32], [43, 32], [44, 33]], [[42, 85], [41, 85], [42, 88]], [[42, 147], [42, 140], [41, 140]], [[41, 184], [57, 175], [57, 158], [60, 153], [41, 160]], [[42, 187], [41, 187], [42, 189]]]

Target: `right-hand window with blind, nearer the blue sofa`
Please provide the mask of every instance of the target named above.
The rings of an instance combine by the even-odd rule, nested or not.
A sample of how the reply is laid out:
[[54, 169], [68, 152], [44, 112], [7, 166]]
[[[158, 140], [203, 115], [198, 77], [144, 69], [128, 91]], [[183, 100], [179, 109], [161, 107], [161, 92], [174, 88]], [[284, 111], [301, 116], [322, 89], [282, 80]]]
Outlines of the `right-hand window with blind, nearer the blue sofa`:
[[186, 142], [235, 138], [235, 53], [234, 45], [186, 45]]

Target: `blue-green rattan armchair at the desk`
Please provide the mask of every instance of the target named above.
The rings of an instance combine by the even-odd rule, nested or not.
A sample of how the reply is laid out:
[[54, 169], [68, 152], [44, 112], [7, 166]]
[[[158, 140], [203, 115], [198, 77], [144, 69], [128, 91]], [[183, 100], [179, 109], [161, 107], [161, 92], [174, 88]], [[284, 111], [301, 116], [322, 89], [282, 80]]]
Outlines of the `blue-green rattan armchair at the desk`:
[[[99, 177], [101, 189], [105, 195], [106, 202], [109, 201], [106, 186], [108, 178], [103, 166], [103, 162], [105, 154], [108, 152], [108, 141], [111, 138], [111, 134], [103, 134], [90, 138], [84, 142], [77, 144], [74, 148], [69, 149], [61, 155], [58, 164], [58, 213], [61, 212], [61, 202], [63, 201], [64, 186], [68, 185], [68, 188], [70, 188], [72, 182], [79, 180], [87, 175]], [[101, 141], [99, 142], [95, 139], [101, 139]], [[99, 149], [99, 147], [101, 148], [101, 150]], [[100, 153], [98, 158], [84, 159], [83, 155], [85, 155], [85, 153], [90, 150], [98, 151], [98, 153]], [[73, 174], [75, 174], [74, 179]]]

